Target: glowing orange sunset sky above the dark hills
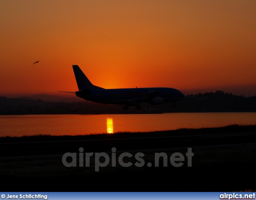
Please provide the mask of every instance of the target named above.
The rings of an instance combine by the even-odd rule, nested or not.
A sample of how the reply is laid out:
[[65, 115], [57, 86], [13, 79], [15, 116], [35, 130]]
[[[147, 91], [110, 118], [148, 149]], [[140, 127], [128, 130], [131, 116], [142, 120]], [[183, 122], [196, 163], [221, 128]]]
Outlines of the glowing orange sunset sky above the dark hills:
[[0, 24], [0, 96], [76, 91], [72, 64], [103, 88], [256, 95], [255, 0], [8, 0]]

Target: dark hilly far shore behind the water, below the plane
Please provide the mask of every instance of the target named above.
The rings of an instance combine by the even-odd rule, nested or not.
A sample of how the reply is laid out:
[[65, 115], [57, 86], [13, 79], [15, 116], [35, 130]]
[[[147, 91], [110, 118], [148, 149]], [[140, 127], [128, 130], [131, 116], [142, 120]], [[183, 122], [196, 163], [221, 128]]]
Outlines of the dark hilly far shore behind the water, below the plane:
[[31, 98], [0, 97], [0, 115], [19, 114], [154, 114], [175, 112], [256, 112], [256, 96], [245, 97], [223, 91], [190, 94], [176, 102], [164, 102], [158, 105], [141, 104], [136, 110], [130, 106], [123, 110], [123, 105], [99, 104], [90, 101], [65, 102], [53, 100], [47, 95]]

